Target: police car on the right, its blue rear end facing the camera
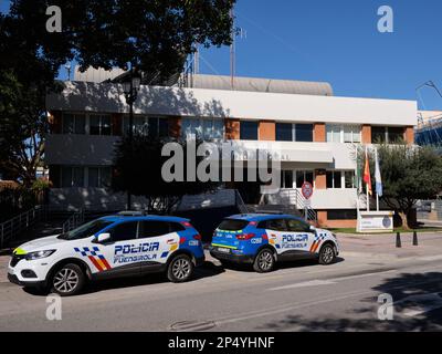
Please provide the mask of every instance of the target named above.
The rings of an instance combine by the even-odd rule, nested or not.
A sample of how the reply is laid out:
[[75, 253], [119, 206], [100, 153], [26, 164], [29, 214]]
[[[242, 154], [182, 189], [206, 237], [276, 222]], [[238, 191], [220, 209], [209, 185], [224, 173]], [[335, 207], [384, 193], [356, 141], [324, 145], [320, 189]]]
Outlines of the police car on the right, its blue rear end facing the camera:
[[276, 261], [317, 258], [332, 264], [339, 253], [336, 236], [291, 215], [245, 214], [224, 219], [213, 233], [210, 254], [221, 262], [251, 263], [271, 271]]

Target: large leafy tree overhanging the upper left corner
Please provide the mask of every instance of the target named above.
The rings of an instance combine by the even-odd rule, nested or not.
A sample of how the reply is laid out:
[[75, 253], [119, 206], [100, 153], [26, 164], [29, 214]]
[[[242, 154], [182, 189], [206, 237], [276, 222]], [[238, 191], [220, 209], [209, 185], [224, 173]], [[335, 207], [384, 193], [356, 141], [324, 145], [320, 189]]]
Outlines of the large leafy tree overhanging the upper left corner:
[[[181, 71], [198, 44], [231, 41], [234, 0], [13, 0], [0, 14], [0, 173], [31, 186], [44, 155], [45, 97], [66, 61], [158, 80]], [[49, 6], [62, 32], [48, 32]]]

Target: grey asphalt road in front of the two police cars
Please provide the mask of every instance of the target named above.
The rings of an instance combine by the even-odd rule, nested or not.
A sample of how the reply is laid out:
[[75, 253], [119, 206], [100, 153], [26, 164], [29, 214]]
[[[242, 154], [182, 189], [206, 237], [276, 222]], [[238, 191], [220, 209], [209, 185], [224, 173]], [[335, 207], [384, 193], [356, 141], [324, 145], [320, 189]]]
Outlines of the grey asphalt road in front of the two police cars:
[[[442, 256], [343, 252], [336, 264], [284, 263], [257, 274], [209, 260], [188, 283], [161, 275], [90, 285], [46, 319], [46, 298], [0, 281], [0, 331], [442, 330]], [[393, 320], [378, 319], [391, 294]]]

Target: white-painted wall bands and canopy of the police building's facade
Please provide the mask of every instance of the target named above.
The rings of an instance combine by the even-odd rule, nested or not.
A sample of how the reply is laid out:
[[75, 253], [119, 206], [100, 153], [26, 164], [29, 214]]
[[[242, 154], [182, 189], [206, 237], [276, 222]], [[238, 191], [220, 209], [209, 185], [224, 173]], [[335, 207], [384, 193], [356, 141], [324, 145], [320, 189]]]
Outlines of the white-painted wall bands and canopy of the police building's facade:
[[[66, 82], [60, 95], [48, 96], [48, 108], [87, 114], [127, 114], [123, 87], [110, 83]], [[241, 121], [274, 121], [276, 123], [320, 123], [337, 126], [362, 125], [410, 127], [417, 125], [417, 102], [358, 97], [315, 96], [262, 92], [240, 92], [206, 88], [141, 86], [134, 106], [135, 114], [164, 117], [235, 118]], [[326, 133], [325, 133], [326, 134]], [[340, 135], [339, 135], [340, 134]], [[361, 142], [362, 133], [355, 138]], [[327, 135], [327, 134], [326, 134]], [[328, 136], [328, 135], [327, 135]], [[332, 136], [332, 135], [330, 135]], [[317, 210], [355, 209], [356, 189], [346, 186], [345, 173], [355, 171], [355, 144], [339, 142], [263, 142], [234, 140], [238, 148], [266, 148], [281, 155], [282, 169], [339, 171], [341, 181], [332, 188], [315, 188], [312, 207]], [[59, 166], [110, 166], [113, 145], [118, 136], [53, 134], [48, 138], [46, 162]], [[362, 142], [364, 143], [364, 142]], [[295, 178], [295, 177], [294, 177]], [[338, 187], [335, 187], [338, 186]], [[292, 186], [297, 188], [297, 186]], [[315, 186], [316, 187], [316, 186]], [[72, 200], [70, 188], [54, 189], [56, 200]], [[94, 190], [82, 194], [93, 199]], [[114, 198], [103, 189], [96, 192], [99, 202]], [[81, 198], [80, 198], [81, 199]], [[94, 200], [90, 200], [94, 204]], [[364, 205], [361, 205], [364, 207]]]

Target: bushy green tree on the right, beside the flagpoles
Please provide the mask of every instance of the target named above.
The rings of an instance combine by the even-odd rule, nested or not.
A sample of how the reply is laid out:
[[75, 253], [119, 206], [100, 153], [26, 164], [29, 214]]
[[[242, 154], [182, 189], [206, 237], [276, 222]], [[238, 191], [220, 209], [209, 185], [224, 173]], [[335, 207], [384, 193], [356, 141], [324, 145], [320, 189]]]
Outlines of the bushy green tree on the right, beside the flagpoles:
[[[359, 150], [364, 160], [365, 150]], [[419, 147], [404, 143], [378, 146], [383, 184], [381, 200], [401, 218], [402, 227], [413, 227], [412, 208], [420, 199], [432, 199], [442, 191], [442, 157], [433, 147]], [[375, 156], [369, 153], [372, 190], [375, 185]]]

